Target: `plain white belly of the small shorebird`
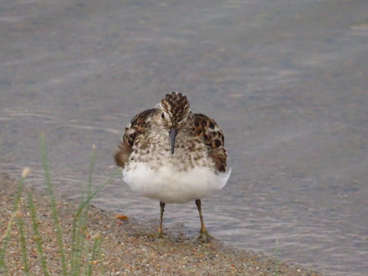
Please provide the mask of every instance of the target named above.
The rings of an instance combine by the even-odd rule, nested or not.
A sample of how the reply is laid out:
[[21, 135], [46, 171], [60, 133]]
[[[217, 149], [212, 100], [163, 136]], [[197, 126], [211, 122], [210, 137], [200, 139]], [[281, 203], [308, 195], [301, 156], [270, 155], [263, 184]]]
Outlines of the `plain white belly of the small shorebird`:
[[186, 203], [221, 190], [230, 172], [231, 169], [215, 174], [213, 169], [202, 166], [179, 171], [169, 162], [152, 169], [146, 162], [134, 162], [134, 170], [123, 169], [123, 180], [133, 191], [145, 197], [164, 203]]

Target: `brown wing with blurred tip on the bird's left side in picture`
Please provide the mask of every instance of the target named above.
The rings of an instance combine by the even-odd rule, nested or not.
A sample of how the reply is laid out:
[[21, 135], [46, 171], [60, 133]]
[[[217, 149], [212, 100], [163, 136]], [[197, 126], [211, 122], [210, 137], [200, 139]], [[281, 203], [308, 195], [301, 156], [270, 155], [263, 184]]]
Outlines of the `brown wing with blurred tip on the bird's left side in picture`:
[[134, 140], [138, 134], [143, 134], [148, 126], [148, 118], [155, 113], [157, 109], [148, 109], [136, 115], [125, 127], [125, 132], [117, 146], [115, 162], [118, 166], [124, 167], [133, 151]]

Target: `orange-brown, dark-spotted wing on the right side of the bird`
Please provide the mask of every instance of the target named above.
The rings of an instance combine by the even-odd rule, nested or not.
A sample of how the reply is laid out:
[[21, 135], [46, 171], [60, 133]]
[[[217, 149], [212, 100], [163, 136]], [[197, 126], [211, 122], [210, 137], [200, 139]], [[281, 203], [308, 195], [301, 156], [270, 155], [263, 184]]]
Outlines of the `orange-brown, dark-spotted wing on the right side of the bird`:
[[224, 134], [216, 122], [203, 115], [193, 114], [194, 133], [196, 137], [202, 137], [208, 148], [208, 156], [212, 158], [218, 171], [226, 171], [227, 154], [224, 148]]

